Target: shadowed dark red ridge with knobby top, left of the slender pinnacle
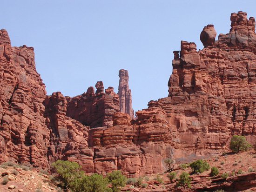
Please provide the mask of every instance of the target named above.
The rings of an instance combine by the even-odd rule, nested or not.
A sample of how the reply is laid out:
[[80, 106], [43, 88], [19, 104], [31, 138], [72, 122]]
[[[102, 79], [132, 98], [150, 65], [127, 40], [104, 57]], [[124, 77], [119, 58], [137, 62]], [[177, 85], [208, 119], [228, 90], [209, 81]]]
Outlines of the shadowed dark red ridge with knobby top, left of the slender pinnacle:
[[119, 97], [113, 87], [105, 89], [102, 81], [94, 88], [91, 86], [86, 93], [67, 99], [67, 116], [90, 127], [112, 126], [114, 113], [119, 112]]

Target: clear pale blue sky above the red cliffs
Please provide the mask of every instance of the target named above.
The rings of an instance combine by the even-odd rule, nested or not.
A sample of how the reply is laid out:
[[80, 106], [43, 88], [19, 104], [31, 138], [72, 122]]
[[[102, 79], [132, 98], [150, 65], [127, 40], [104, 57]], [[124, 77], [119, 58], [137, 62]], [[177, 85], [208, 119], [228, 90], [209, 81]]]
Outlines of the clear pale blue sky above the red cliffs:
[[230, 13], [256, 17], [256, 1], [2, 0], [1, 28], [12, 46], [33, 46], [47, 95], [75, 96], [99, 80], [118, 92], [127, 69], [135, 111], [168, 96], [173, 51], [195, 42], [204, 26], [229, 33]]

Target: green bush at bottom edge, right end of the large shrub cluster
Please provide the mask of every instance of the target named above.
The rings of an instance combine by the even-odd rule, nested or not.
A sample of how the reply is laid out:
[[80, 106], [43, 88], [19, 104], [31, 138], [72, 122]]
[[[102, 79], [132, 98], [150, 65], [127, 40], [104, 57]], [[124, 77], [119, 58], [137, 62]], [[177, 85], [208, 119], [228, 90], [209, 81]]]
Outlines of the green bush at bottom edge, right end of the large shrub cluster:
[[111, 184], [113, 192], [120, 192], [120, 187], [124, 187], [127, 178], [119, 170], [107, 174], [108, 182]]

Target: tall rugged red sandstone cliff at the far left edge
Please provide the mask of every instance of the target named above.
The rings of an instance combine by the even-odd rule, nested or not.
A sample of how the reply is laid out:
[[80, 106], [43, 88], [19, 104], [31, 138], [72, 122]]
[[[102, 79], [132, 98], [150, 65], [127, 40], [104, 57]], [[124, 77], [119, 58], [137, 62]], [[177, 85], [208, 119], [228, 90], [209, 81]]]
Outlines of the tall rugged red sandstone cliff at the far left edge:
[[11, 47], [0, 30], [0, 161], [49, 166], [49, 130], [43, 118], [45, 86], [33, 47]]

